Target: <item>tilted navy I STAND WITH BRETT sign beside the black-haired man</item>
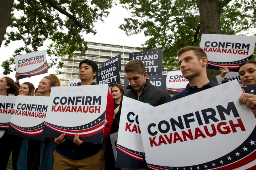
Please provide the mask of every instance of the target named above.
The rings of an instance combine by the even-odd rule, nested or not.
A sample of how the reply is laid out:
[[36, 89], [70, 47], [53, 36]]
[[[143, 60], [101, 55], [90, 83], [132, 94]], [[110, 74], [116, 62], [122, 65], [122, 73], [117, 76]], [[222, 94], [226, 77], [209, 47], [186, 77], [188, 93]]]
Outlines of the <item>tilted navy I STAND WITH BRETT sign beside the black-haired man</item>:
[[98, 69], [98, 74], [96, 75], [96, 81], [97, 81], [97, 84], [107, 84], [108, 86], [113, 86], [114, 84], [120, 84], [121, 80], [120, 80], [118, 61]]

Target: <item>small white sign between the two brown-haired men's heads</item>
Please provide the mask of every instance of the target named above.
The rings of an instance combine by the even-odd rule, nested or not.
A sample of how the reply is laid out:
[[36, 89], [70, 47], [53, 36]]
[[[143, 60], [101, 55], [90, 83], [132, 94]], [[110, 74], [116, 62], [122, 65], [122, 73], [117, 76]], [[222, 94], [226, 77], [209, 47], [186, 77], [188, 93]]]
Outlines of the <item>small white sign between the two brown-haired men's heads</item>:
[[182, 75], [181, 70], [167, 72], [166, 89], [170, 94], [185, 90], [188, 83], [188, 79]]

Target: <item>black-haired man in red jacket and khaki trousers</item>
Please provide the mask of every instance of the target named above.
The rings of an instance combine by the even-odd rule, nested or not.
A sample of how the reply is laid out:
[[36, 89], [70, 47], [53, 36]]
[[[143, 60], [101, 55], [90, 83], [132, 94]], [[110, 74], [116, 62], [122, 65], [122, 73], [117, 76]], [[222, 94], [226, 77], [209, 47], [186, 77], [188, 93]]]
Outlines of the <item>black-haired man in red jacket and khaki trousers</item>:
[[[94, 61], [84, 60], [79, 63], [79, 78], [81, 82], [78, 85], [95, 85], [93, 82], [98, 72], [98, 66]], [[73, 87], [74, 88], [74, 87]], [[107, 92], [107, 105], [105, 127], [103, 139], [105, 139], [111, 129], [114, 117], [114, 100], [110, 92]], [[83, 142], [76, 133], [74, 140], [65, 140], [65, 134], [55, 138], [57, 143], [54, 151], [53, 169], [83, 169], [83, 170], [102, 170], [104, 164], [104, 152], [102, 144]]]

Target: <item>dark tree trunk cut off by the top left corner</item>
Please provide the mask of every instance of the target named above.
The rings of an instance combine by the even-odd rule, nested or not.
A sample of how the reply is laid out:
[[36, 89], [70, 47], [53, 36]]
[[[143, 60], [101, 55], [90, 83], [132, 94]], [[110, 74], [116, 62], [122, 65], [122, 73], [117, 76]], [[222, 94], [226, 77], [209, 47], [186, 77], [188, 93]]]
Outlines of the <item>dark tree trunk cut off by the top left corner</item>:
[[0, 0], [0, 47], [4, 40], [6, 28], [11, 25], [11, 10], [14, 0]]

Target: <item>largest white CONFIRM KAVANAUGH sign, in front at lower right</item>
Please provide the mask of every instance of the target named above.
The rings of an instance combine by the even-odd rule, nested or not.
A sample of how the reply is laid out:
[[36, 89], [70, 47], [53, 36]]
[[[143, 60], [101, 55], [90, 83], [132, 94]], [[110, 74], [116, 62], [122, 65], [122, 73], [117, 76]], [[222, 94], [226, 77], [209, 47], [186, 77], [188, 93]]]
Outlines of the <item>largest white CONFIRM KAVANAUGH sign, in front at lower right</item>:
[[234, 80], [156, 107], [132, 103], [148, 168], [256, 169], [256, 119], [241, 94]]

